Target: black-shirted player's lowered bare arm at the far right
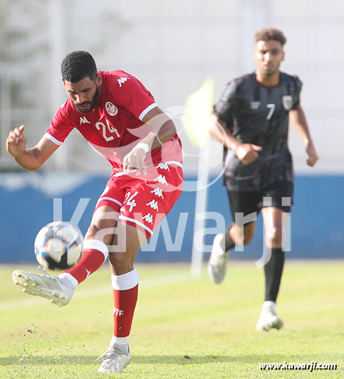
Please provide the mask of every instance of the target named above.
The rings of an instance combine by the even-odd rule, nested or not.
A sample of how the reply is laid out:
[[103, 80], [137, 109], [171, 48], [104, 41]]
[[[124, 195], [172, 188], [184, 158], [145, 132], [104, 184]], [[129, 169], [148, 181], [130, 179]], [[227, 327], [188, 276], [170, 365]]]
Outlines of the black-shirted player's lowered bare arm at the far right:
[[318, 161], [319, 157], [316, 152], [316, 147], [313, 144], [311, 133], [308, 129], [306, 115], [303, 112], [301, 105], [297, 105], [295, 108], [293, 108], [289, 112], [289, 117], [293, 128], [296, 130], [297, 134], [301, 138], [301, 141], [306, 146], [306, 153], [308, 154], [307, 164], [308, 166], [313, 167]]

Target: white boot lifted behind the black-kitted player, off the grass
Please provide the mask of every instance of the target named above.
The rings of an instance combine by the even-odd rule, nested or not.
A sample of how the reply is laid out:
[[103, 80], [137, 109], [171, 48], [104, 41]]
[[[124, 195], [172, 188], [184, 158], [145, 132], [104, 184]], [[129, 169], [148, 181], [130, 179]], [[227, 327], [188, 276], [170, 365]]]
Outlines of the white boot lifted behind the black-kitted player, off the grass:
[[227, 259], [229, 250], [224, 251], [220, 246], [220, 241], [224, 237], [223, 233], [215, 235], [208, 262], [208, 274], [214, 283], [221, 283], [226, 275]]

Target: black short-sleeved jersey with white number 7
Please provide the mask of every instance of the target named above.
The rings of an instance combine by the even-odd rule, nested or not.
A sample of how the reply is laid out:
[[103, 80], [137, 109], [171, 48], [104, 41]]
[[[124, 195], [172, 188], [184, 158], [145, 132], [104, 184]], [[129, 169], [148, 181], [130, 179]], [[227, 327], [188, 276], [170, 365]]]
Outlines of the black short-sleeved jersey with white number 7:
[[248, 165], [224, 149], [224, 183], [229, 190], [259, 191], [273, 181], [293, 181], [288, 112], [300, 103], [301, 86], [296, 76], [286, 73], [281, 73], [275, 87], [257, 82], [255, 73], [226, 85], [214, 114], [240, 142], [263, 147], [259, 158]]

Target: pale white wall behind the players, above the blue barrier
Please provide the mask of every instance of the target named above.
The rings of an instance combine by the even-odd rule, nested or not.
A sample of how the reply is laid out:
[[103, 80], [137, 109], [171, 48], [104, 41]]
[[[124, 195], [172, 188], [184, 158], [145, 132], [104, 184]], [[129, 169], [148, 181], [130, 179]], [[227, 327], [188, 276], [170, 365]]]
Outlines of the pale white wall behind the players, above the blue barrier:
[[[56, 0], [51, 0], [50, 6], [53, 2], [56, 5]], [[55, 78], [49, 117], [63, 102], [63, 92], [60, 97], [56, 96], [59, 80], [56, 71], [63, 56], [71, 50], [89, 50], [100, 70], [121, 68], [136, 75], [166, 109], [183, 106], [189, 93], [197, 90], [209, 75], [215, 79], [215, 97], [218, 97], [231, 78], [254, 70], [253, 33], [262, 26], [273, 26], [281, 28], [288, 39], [286, 60], [281, 68], [303, 81], [302, 104], [320, 155], [318, 166], [308, 169], [303, 145], [291, 131], [296, 170], [308, 174], [344, 171], [343, 0], [99, 0], [96, 3], [76, 0], [73, 5], [67, 1], [57, 3], [67, 7], [68, 23], [62, 26], [67, 28], [65, 40], [58, 35], [53, 37], [53, 31], [61, 28], [61, 23], [49, 23], [49, 28], [55, 28], [49, 32], [50, 46], [55, 46], [55, 50], [51, 48], [55, 51], [50, 55], [51, 72], [44, 78]], [[51, 16], [51, 8], [47, 8], [47, 15]], [[61, 41], [65, 41], [63, 46], [58, 45]], [[49, 121], [48, 117], [42, 118], [42, 124]], [[179, 119], [176, 123], [182, 129]], [[1, 125], [1, 129], [3, 127], [6, 126]], [[40, 132], [45, 128], [46, 124]], [[184, 134], [182, 137], [186, 154], [197, 154], [187, 137]], [[30, 142], [33, 144], [33, 139]], [[90, 164], [92, 169], [105, 167], [108, 170], [100, 157], [85, 149], [78, 135], [60, 150], [54, 162], [61, 167], [66, 167], [66, 162], [74, 156], [79, 169]], [[3, 150], [1, 154], [4, 157]], [[64, 159], [66, 154], [68, 159]], [[219, 159], [221, 146], [214, 149], [214, 160]], [[195, 161], [188, 158], [186, 164], [194, 166]]]

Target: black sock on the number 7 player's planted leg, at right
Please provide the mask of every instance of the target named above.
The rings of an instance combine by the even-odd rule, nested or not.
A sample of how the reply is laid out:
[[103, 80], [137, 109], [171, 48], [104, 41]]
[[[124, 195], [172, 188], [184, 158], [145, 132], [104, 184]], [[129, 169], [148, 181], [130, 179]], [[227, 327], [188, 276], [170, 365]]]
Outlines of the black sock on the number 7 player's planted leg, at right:
[[265, 301], [275, 301], [281, 284], [284, 265], [284, 252], [282, 247], [271, 248], [271, 258], [264, 266], [265, 272]]

